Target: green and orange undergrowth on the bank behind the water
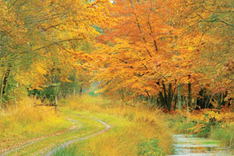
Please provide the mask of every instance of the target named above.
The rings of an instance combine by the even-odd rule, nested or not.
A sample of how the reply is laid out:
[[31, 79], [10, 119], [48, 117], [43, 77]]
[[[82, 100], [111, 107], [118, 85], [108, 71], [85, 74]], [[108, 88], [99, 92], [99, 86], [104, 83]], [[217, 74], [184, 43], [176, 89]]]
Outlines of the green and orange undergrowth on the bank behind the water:
[[234, 150], [234, 112], [231, 109], [171, 114], [169, 120], [174, 133], [219, 140], [222, 146]]

